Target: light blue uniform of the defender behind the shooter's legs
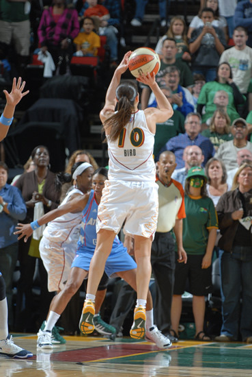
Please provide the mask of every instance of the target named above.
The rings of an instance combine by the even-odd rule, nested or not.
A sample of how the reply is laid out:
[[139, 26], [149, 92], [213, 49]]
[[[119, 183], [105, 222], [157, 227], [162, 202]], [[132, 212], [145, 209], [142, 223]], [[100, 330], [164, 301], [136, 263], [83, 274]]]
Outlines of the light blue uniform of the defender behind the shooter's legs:
[[[72, 262], [72, 267], [79, 267], [85, 269], [85, 271], [89, 271], [90, 261], [96, 248], [97, 212], [98, 203], [94, 196], [94, 190], [92, 190], [89, 194], [87, 205], [83, 209], [78, 249]], [[108, 276], [112, 276], [113, 273], [135, 268], [137, 268], [135, 260], [128, 255], [126, 247], [124, 247], [118, 236], [115, 236], [111, 253], [105, 265], [105, 272]]]

